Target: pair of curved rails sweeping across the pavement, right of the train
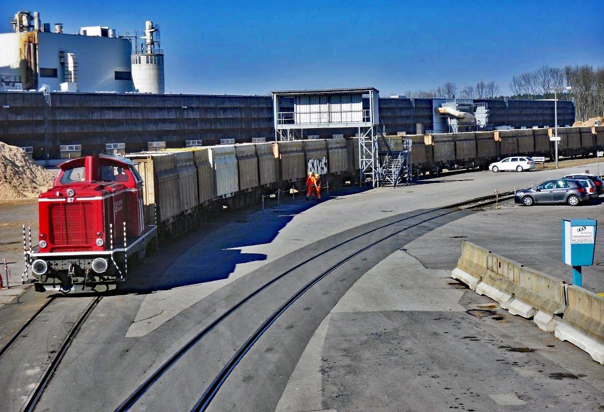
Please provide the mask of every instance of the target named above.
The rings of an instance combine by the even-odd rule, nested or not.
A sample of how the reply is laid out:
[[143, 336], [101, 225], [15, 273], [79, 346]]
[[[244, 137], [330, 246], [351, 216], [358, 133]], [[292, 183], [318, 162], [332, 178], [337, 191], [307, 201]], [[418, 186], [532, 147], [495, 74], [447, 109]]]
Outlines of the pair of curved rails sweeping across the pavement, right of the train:
[[[505, 193], [504, 195], [509, 196], [510, 193]], [[425, 215], [428, 213], [433, 213], [434, 211], [437, 211], [437, 210], [448, 210], [445, 213], [439, 214], [438, 216], [429, 217], [428, 219], [422, 220], [421, 222], [418, 222], [416, 224], [405, 227], [402, 230], [396, 231], [394, 233], [390, 233], [387, 236], [383, 237], [382, 239], [376, 240], [375, 242], [371, 243], [370, 245], [365, 246], [365, 248], [362, 248], [359, 251], [356, 251], [355, 253], [352, 253], [349, 256], [345, 257], [344, 259], [340, 260], [338, 263], [333, 265], [331, 268], [327, 269], [327, 271], [324, 271], [317, 277], [313, 278], [313, 280], [311, 280], [309, 283], [304, 285], [303, 288], [299, 289], [294, 295], [292, 295], [291, 298], [289, 298], [288, 301], [283, 303], [275, 312], [273, 312], [273, 314], [269, 318], [267, 318], [266, 321], [254, 332], [254, 335], [252, 335], [246, 341], [246, 343], [243, 344], [239, 348], [239, 350], [237, 350], [236, 354], [230, 359], [230, 361], [225, 365], [225, 367], [223, 367], [223, 369], [220, 371], [219, 375], [217, 375], [216, 378], [214, 378], [213, 382], [210, 384], [210, 386], [207, 388], [207, 390], [204, 391], [204, 394], [199, 399], [199, 401], [195, 404], [195, 406], [193, 407], [193, 409], [191, 411], [205, 410], [208, 407], [208, 405], [210, 404], [210, 402], [212, 401], [212, 399], [214, 398], [214, 396], [216, 395], [217, 391], [220, 389], [220, 386], [222, 385], [222, 383], [226, 380], [226, 378], [228, 378], [228, 375], [230, 375], [230, 373], [233, 371], [233, 369], [236, 367], [236, 365], [239, 363], [239, 361], [243, 358], [243, 356], [245, 356], [245, 353], [247, 353], [249, 351], [249, 349], [251, 349], [253, 344], [260, 338], [260, 336], [262, 336], [262, 334], [268, 329], [268, 327], [270, 327], [271, 324], [274, 323], [274, 321], [277, 320], [277, 318], [281, 314], [283, 314], [283, 312], [286, 311], [286, 309], [288, 309], [288, 307], [291, 306], [296, 300], [298, 300], [298, 298], [300, 298], [306, 291], [308, 291], [310, 288], [312, 288], [312, 286], [315, 285], [316, 283], [320, 282], [321, 279], [323, 279], [324, 277], [329, 275], [336, 268], [338, 268], [345, 262], [348, 262], [350, 259], [353, 259], [353, 257], [358, 256], [358, 254], [361, 254], [364, 251], [367, 251], [367, 249], [372, 248], [373, 246], [377, 245], [378, 243], [384, 242], [384, 240], [390, 239], [391, 237], [396, 236], [397, 234], [400, 234], [403, 231], [409, 230], [410, 228], [425, 224], [426, 222], [429, 222], [431, 220], [437, 219], [442, 216], [446, 216], [447, 214], [455, 213], [456, 211], [463, 209], [463, 208], [479, 207], [480, 205], [489, 205], [489, 204], [493, 204], [493, 203], [495, 203], [495, 195], [489, 195], [489, 196], [483, 196], [481, 198], [471, 199], [469, 201], [458, 202], [458, 203], [451, 204], [451, 205], [448, 205], [445, 207], [434, 208], [432, 210], [423, 211], [421, 213], [417, 213], [412, 216], [403, 217], [402, 219], [398, 219], [394, 222], [390, 222], [388, 224], [381, 225], [377, 228], [373, 228], [371, 230], [365, 231], [364, 233], [351, 237], [350, 239], [344, 240], [344, 242], [338, 243], [337, 245], [334, 245], [318, 254], [315, 254], [312, 257], [309, 257], [308, 259], [304, 260], [303, 262], [298, 263], [297, 265], [293, 266], [292, 268], [289, 268], [287, 271], [284, 271], [283, 273], [277, 275], [277, 277], [272, 278], [271, 280], [266, 282], [264, 285], [255, 289], [254, 292], [252, 292], [251, 294], [249, 294], [248, 296], [246, 296], [245, 298], [240, 300], [238, 303], [234, 304], [234, 306], [231, 306], [229, 309], [227, 309], [225, 312], [223, 312], [222, 315], [220, 315], [218, 318], [216, 318], [216, 320], [214, 320], [208, 326], [204, 327], [204, 329], [202, 329], [193, 338], [191, 338], [191, 340], [189, 340], [186, 344], [184, 344], [184, 346], [182, 346], [181, 349], [179, 349], [172, 356], [170, 356], [170, 358], [167, 359], [167, 361], [165, 361], [155, 372], [153, 372], [152, 375], [150, 375], [149, 378], [147, 378], [143, 382], [143, 384], [141, 384], [135, 391], [133, 391], [133, 393], [130, 394], [130, 396], [115, 409], [115, 412], [125, 412], [125, 411], [129, 410], [135, 404], [135, 402], [137, 402], [137, 400], [150, 387], [152, 387], [152, 385], [155, 383], [155, 381], [157, 381], [164, 374], [165, 371], [170, 369], [170, 367], [172, 367], [172, 365], [175, 364], [175, 362], [178, 361], [178, 359], [181, 358], [181, 356], [183, 356], [189, 349], [191, 349], [191, 347], [193, 347], [196, 343], [198, 343], [205, 335], [207, 335], [208, 332], [210, 332], [216, 326], [218, 326], [220, 323], [222, 323], [222, 321], [224, 321], [226, 318], [228, 318], [231, 314], [233, 314], [233, 312], [235, 312], [237, 309], [239, 309], [239, 307], [243, 306], [243, 304], [245, 304], [247, 301], [251, 300], [251, 298], [260, 294], [260, 292], [262, 292], [269, 286], [273, 285], [275, 282], [277, 282], [281, 278], [285, 277], [286, 275], [290, 274], [291, 272], [295, 271], [296, 269], [300, 268], [301, 266], [306, 265], [307, 263], [312, 262], [313, 260], [329, 253], [330, 251], [333, 251], [336, 248], [339, 248], [347, 243], [350, 243], [353, 240], [359, 239], [360, 237], [366, 236], [367, 234], [374, 233], [378, 230], [381, 230], [383, 228], [386, 228], [386, 227], [389, 227], [392, 225], [396, 225], [405, 220], [413, 219], [414, 217], [422, 216], [422, 215]]]

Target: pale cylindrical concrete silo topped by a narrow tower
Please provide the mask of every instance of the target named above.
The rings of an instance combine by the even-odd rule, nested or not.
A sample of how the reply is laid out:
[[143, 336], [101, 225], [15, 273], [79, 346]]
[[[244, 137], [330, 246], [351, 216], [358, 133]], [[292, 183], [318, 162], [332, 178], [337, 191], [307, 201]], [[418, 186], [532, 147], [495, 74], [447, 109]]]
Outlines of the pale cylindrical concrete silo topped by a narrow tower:
[[132, 81], [140, 93], [164, 94], [164, 51], [159, 48], [159, 27], [145, 22], [145, 42], [132, 54]]

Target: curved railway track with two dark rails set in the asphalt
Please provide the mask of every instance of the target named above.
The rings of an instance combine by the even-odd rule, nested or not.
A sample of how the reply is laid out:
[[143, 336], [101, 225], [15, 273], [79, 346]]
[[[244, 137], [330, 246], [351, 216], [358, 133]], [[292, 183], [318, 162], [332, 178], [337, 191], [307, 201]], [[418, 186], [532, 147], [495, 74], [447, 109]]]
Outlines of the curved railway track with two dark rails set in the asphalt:
[[[512, 192], [503, 193], [503, 194], [500, 194], [499, 201], [509, 199], [511, 197], [513, 197]], [[252, 335], [249, 336], [249, 338], [245, 341], [245, 343], [243, 343], [239, 347], [239, 349], [236, 350], [236, 353], [234, 353], [234, 355], [228, 360], [228, 362], [226, 362], [226, 364], [223, 365], [222, 369], [220, 369], [220, 372], [217, 373], [215, 378], [211, 381], [210, 385], [208, 385], [208, 387], [205, 388], [201, 398], [199, 398], [198, 401], [195, 402], [193, 408], [191, 408], [191, 411], [196, 411], [196, 412], [207, 410], [207, 408], [210, 406], [211, 402], [213, 401], [214, 396], [216, 396], [217, 392], [220, 390], [220, 387], [222, 387], [223, 383], [226, 381], [228, 376], [231, 375], [231, 372], [233, 372], [233, 370], [237, 367], [239, 362], [243, 359], [243, 357], [246, 355], [246, 353], [249, 352], [249, 350], [252, 348], [252, 346], [254, 346], [254, 343], [256, 343], [260, 339], [260, 337], [263, 335], [263, 333], [265, 333], [266, 330], [268, 330], [269, 327], [271, 327], [271, 325], [284, 312], [286, 312], [287, 309], [290, 306], [292, 306], [292, 304], [295, 303], [295, 301], [297, 301], [307, 291], [309, 291], [311, 288], [313, 288], [313, 286], [320, 283], [321, 280], [323, 280], [324, 278], [329, 276], [333, 271], [335, 271], [336, 269], [338, 269], [339, 267], [344, 265], [346, 262], [349, 262], [350, 260], [359, 256], [360, 254], [373, 248], [374, 246], [379, 245], [379, 243], [382, 243], [385, 240], [391, 239], [394, 236], [397, 236], [407, 230], [410, 230], [411, 228], [426, 224], [428, 222], [431, 222], [432, 220], [439, 219], [440, 217], [443, 217], [443, 216], [447, 216], [448, 214], [457, 213], [460, 210], [486, 207], [486, 206], [495, 204], [495, 202], [496, 202], [495, 196], [490, 195], [490, 196], [484, 196], [484, 197], [477, 198], [477, 199], [472, 199], [470, 201], [459, 202], [459, 203], [448, 205], [448, 206], [442, 207], [442, 208], [435, 208], [435, 209], [432, 209], [429, 211], [422, 211], [420, 213], [413, 214], [411, 216], [406, 216], [406, 217], [403, 217], [402, 219], [396, 220], [394, 222], [390, 222], [388, 224], [381, 225], [377, 228], [373, 228], [371, 230], [365, 231], [364, 233], [353, 236], [350, 239], [344, 240], [343, 242], [340, 242], [324, 251], [321, 251], [320, 253], [317, 253], [317, 254], [309, 257], [306, 260], [303, 260], [303, 262], [298, 263], [297, 265], [293, 266], [292, 268], [289, 268], [288, 270], [281, 272], [280, 274], [278, 274], [277, 276], [275, 276], [268, 282], [264, 283], [259, 288], [255, 289], [255, 291], [251, 292], [251, 294], [247, 295], [245, 298], [240, 300], [238, 303], [231, 306], [229, 309], [227, 309], [225, 312], [223, 312], [219, 317], [217, 317], [216, 320], [214, 320], [208, 326], [204, 327], [204, 329], [199, 331], [193, 338], [191, 338], [186, 344], [184, 344], [178, 351], [176, 351], [172, 356], [170, 356], [170, 358], [167, 359], [167, 361], [165, 361], [157, 370], [155, 370], [155, 372], [153, 372], [146, 379], [146, 381], [143, 382], [143, 384], [141, 384], [138, 388], [136, 388], [136, 390], [133, 391], [132, 394], [130, 394], [130, 396], [126, 400], [124, 400], [124, 402], [122, 402], [122, 404], [120, 404], [115, 409], [115, 412], [127, 411], [130, 408], [132, 408], [135, 404], [137, 404], [137, 401], [153, 386], [153, 384], [155, 384], [155, 382], [158, 381], [158, 379], [160, 379], [162, 377], [162, 375], [164, 375], [164, 373], [166, 373], [173, 365], [175, 365], [176, 362], [178, 362], [178, 360], [181, 359], [189, 350], [191, 350], [205, 336], [207, 336], [208, 333], [210, 333], [212, 330], [216, 329], [217, 326], [219, 326], [224, 321], [226, 321], [231, 315], [234, 314], [234, 312], [236, 312], [238, 309], [240, 309], [240, 307], [242, 307], [248, 301], [252, 300], [254, 297], [257, 297], [259, 294], [261, 294], [263, 291], [265, 291], [267, 288], [269, 288], [269, 286], [274, 285], [279, 280], [283, 279], [284, 277], [286, 277], [287, 275], [296, 271], [297, 269], [300, 269], [304, 265], [307, 265], [310, 262], [320, 259], [321, 257], [324, 257], [326, 254], [328, 254], [332, 251], [335, 251], [336, 249], [342, 248], [342, 246], [350, 246], [350, 243], [355, 240], [362, 239], [363, 237], [366, 237], [370, 234], [376, 234], [378, 231], [381, 231], [381, 230], [384, 230], [387, 228], [392, 228], [397, 224], [401, 224], [401, 223], [405, 222], [406, 220], [410, 220], [410, 219], [414, 219], [414, 218], [418, 218], [418, 217], [421, 219], [421, 220], [419, 220], [419, 222], [413, 222], [411, 224], [403, 226], [402, 228], [396, 228], [396, 230], [394, 230], [394, 231], [390, 231], [389, 233], [382, 234], [376, 240], [370, 240], [370, 242], [368, 242], [367, 245], [362, 246], [361, 248], [358, 248], [355, 251], [353, 251], [353, 253], [347, 254], [344, 258], [339, 259], [338, 262], [331, 265], [329, 268], [327, 268], [326, 270], [322, 271], [320, 274], [318, 274], [315, 277], [313, 277], [312, 279], [310, 279], [309, 282], [304, 284], [301, 288], [297, 289], [297, 291], [293, 292], [291, 294], [291, 297], [289, 297], [277, 309], [275, 309], [272, 312], [272, 314], [270, 314], [266, 318], [266, 320], [263, 321], [262, 324], [260, 324], [260, 326], [257, 327], [257, 329], [255, 329], [254, 333], [252, 333]], [[442, 211], [442, 213], [439, 213], [439, 211]], [[435, 216], [430, 216], [431, 214], [434, 214], [434, 213], [437, 213], [437, 214], [435, 214]]]

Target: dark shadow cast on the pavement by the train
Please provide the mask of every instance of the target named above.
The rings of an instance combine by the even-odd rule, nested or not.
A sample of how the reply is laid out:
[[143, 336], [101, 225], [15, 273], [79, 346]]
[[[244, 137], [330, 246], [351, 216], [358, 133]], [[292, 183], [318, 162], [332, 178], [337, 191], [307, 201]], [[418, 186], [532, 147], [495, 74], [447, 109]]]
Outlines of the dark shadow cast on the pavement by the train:
[[[323, 201], [364, 190], [344, 188], [324, 196]], [[160, 245], [159, 251], [120, 285], [119, 293], [144, 294], [228, 278], [237, 265], [266, 260], [266, 254], [244, 253], [240, 248], [271, 243], [294, 216], [318, 203], [306, 201], [298, 193], [294, 202], [291, 196], [281, 198], [280, 205], [275, 200], [266, 202], [264, 212], [258, 205], [227, 211], [185, 236]]]

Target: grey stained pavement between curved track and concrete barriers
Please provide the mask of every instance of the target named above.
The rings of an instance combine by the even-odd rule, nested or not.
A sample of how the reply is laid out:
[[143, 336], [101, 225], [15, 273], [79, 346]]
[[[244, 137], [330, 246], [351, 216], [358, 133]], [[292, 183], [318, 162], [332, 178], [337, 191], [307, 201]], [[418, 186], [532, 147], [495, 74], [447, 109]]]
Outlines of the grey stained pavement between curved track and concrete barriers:
[[310, 339], [276, 411], [604, 408], [601, 365], [449, 276], [403, 250], [374, 266]]

